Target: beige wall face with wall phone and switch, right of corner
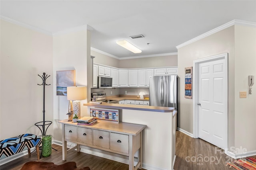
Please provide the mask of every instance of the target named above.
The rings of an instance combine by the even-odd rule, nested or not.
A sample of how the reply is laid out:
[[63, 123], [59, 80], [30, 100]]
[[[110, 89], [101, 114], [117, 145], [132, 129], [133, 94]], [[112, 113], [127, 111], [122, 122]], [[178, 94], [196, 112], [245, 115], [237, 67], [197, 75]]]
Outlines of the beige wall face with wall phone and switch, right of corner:
[[[256, 77], [256, 28], [235, 26], [234, 62], [234, 110], [235, 110], [235, 147], [242, 146], [255, 150], [256, 141], [256, 85], [248, 94], [248, 76]], [[256, 79], [254, 80], [256, 81]], [[239, 98], [239, 92], [247, 92], [247, 98]], [[252, 135], [254, 134], [254, 135]]]

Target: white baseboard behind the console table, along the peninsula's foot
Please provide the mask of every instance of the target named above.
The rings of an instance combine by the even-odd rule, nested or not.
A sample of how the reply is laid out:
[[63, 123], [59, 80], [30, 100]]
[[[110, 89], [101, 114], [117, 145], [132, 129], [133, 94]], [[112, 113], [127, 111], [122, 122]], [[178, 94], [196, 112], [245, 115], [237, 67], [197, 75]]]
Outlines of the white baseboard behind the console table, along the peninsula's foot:
[[[61, 141], [54, 140], [54, 141], [52, 141], [52, 143], [62, 146]], [[74, 143], [67, 142], [67, 147], [68, 148], [74, 147], [74, 145], [75, 145]], [[89, 148], [89, 147], [84, 147], [82, 145], [80, 145], [80, 147], [81, 147], [81, 150], [80, 150], [81, 152], [91, 154], [91, 155], [94, 155], [94, 156], [99, 156], [99, 157], [102, 157], [102, 158], [107, 158], [107, 159], [110, 159], [110, 160], [114, 160], [116, 162], [129, 164], [129, 159], [128, 159], [127, 156], [121, 156], [121, 155], [117, 156], [118, 154], [112, 154], [111, 152], [106, 152], [106, 151], [102, 152], [102, 150], [99, 150], [101, 152], [97, 152], [96, 150], [98, 150], [98, 149], [90, 150], [90, 149], [86, 149], [86, 148]], [[175, 161], [175, 158], [174, 158], [174, 161]], [[138, 162], [138, 159], [134, 158], [134, 166], [137, 164], [137, 162]], [[173, 163], [173, 165], [174, 165], [174, 163]], [[161, 167], [158, 167], [158, 166], [153, 166], [153, 165], [150, 165], [150, 164], [144, 164], [144, 163], [142, 163], [142, 168], [145, 169], [145, 170], [168, 170], [168, 169], [165, 169], [165, 168], [161, 168]]]

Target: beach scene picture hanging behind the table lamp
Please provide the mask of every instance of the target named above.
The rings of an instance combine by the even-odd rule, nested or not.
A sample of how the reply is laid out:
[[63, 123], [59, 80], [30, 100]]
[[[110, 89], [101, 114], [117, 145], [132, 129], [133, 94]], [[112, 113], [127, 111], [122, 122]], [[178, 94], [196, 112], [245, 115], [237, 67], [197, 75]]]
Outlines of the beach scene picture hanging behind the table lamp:
[[56, 71], [57, 96], [67, 96], [67, 87], [76, 86], [76, 70]]

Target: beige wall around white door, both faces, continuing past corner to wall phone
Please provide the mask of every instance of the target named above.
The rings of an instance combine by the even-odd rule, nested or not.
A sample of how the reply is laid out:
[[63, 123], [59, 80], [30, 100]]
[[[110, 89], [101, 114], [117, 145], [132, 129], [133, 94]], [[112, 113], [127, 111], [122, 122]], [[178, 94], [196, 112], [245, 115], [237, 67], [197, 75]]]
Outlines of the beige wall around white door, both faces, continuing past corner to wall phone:
[[[193, 133], [193, 103], [184, 98], [184, 68], [194, 60], [228, 53], [228, 149], [256, 152], [256, 95], [248, 94], [248, 75], [256, 75], [255, 47], [256, 28], [235, 25], [178, 49], [178, 127]], [[246, 91], [247, 98], [239, 98], [240, 91]]]

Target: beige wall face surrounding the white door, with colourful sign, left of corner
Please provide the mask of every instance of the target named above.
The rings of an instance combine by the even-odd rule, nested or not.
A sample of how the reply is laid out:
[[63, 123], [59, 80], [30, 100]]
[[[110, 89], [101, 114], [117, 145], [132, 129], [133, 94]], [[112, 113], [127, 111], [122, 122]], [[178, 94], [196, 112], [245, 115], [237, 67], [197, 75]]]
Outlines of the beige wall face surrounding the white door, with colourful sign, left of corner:
[[[193, 61], [228, 53], [228, 139], [234, 139], [234, 26], [214, 33], [194, 43], [178, 49], [178, 127], [193, 133], [192, 99], [184, 98], [185, 67], [193, 66]], [[194, 75], [196, 76], [196, 75]], [[193, 94], [192, 94], [193, 95]], [[228, 141], [234, 146], [234, 140]]]

